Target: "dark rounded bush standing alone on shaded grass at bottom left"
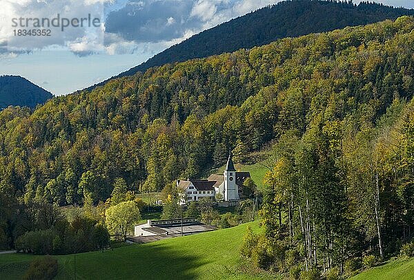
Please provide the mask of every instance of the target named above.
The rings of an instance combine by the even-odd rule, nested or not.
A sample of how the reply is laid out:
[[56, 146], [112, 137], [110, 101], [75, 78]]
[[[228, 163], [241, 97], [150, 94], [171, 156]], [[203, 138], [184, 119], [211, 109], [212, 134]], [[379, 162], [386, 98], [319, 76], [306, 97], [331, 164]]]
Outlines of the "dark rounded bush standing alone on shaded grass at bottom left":
[[23, 275], [23, 280], [53, 279], [57, 275], [57, 260], [50, 256], [34, 259]]

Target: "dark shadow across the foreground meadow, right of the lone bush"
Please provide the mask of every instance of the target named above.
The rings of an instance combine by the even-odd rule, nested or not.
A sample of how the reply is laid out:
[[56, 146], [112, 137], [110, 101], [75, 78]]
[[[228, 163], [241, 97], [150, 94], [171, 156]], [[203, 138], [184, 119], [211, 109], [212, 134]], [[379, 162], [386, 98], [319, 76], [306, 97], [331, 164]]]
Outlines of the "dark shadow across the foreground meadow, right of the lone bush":
[[[67, 278], [58, 278], [72, 278], [74, 262], [73, 255], [61, 256]], [[195, 270], [204, 264], [186, 250], [152, 243], [78, 254], [76, 274], [79, 279], [197, 279]]]

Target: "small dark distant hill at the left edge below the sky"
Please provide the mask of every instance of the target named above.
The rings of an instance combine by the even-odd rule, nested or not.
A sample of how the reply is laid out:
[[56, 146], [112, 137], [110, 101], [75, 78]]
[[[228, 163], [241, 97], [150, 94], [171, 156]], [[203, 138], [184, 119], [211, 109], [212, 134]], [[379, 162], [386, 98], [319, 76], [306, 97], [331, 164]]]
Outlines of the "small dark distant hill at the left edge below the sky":
[[30, 108], [43, 104], [53, 95], [21, 76], [0, 76], [0, 109], [10, 105]]

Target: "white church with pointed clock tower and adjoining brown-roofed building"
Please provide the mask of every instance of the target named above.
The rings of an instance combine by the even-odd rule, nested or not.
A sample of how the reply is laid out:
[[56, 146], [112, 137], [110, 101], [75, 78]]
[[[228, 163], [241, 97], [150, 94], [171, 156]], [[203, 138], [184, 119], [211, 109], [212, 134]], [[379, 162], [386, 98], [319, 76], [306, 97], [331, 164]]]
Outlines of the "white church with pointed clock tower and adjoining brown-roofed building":
[[206, 180], [177, 180], [177, 187], [186, 194], [187, 203], [198, 201], [202, 197], [215, 199], [219, 193], [222, 200], [232, 202], [244, 198], [243, 183], [248, 177], [250, 173], [236, 171], [229, 155], [222, 175], [212, 174]]

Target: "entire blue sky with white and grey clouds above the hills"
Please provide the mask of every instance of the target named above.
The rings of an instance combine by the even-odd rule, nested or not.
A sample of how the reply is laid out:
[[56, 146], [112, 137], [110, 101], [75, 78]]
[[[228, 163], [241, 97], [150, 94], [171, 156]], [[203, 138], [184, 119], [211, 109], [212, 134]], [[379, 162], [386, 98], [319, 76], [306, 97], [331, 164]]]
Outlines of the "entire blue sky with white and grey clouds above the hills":
[[[277, 2], [0, 0], [0, 75], [23, 76], [52, 94], [70, 94], [139, 65], [193, 34]], [[413, 0], [377, 2], [414, 8]], [[50, 34], [14, 33], [22, 29]]]

